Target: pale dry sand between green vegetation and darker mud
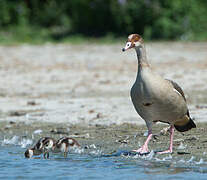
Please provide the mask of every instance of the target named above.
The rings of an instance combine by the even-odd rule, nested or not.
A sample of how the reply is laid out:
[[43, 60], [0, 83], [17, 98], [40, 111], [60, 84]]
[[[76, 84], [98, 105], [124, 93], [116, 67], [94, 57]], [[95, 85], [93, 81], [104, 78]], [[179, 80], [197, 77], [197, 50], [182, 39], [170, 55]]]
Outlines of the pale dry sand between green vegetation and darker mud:
[[[124, 43], [123, 43], [124, 45]], [[196, 122], [207, 115], [207, 43], [147, 43], [158, 73], [180, 84]], [[0, 120], [143, 124], [129, 97], [137, 60], [122, 46], [0, 47]]]

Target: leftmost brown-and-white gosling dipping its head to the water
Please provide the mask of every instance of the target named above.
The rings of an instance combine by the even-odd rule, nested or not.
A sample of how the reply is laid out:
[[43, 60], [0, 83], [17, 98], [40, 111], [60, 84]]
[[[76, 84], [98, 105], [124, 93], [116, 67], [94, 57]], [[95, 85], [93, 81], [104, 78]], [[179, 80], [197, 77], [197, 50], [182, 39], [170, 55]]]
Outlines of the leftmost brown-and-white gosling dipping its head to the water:
[[24, 155], [26, 158], [31, 158], [33, 155], [37, 156], [44, 154], [44, 158], [49, 158], [49, 152], [55, 148], [56, 140], [50, 137], [40, 138], [34, 147], [29, 148], [25, 151]]

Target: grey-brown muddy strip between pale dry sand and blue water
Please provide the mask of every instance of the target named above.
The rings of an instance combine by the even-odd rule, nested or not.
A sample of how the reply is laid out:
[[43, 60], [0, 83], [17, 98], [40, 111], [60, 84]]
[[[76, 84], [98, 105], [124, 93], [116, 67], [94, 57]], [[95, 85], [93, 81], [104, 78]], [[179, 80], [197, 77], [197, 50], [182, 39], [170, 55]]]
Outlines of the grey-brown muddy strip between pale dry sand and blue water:
[[[111, 154], [118, 150], [131, 151], [140, 147], [146, 139], [147, 129], [144, 125], [122, 124], [122, 125], [97, 125], [81, 126], [66, 124], [25, 124], [15, 122], [0, 123], [1, 141], [11, 139], [13, 136], [32, 139], [35, 143], [40, 137], [50, 136], [60, 138], [63, 136], [73, 137], [85, 149], [85, 152], [96, 150], [103, 154]], [[149, 148], [154, 151], [165, 150], [169, 145], [169, 132], [165, 131], [167, 126], [157, 124], [154, 126], [154, 138], [149, 144]], [[196, 129], [185, 133], [175, 132], [173, 157], [180, 159], [195, 160], [201, 158], [207, 160], [207, 124], [198, 123]], [[159, 155], [166, 156], [166, 155]]]

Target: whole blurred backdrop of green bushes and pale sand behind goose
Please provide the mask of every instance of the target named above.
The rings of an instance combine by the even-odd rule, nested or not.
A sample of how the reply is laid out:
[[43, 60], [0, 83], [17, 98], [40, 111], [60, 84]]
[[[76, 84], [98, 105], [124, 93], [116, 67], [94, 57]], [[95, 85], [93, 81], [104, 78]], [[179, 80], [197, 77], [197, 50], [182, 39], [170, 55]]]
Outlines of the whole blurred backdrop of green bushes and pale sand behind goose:
[[129, 95], [135, 52], [121, 51], [139, 33], [206, 121], [206, 20], [206, 0], [0, 0], [0, 120], [144, 123]]

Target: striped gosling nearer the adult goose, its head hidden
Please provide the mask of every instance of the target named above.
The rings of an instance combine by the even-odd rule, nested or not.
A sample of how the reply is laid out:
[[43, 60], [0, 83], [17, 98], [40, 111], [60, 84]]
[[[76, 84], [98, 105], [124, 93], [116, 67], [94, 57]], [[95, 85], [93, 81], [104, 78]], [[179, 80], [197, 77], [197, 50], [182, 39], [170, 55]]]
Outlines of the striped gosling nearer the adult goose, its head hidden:
[[80, 147], [80, 144], [73, 138], [62, 137], [56, 142], [54, 152], [63, 152], [67, 157], [69, 147]]

